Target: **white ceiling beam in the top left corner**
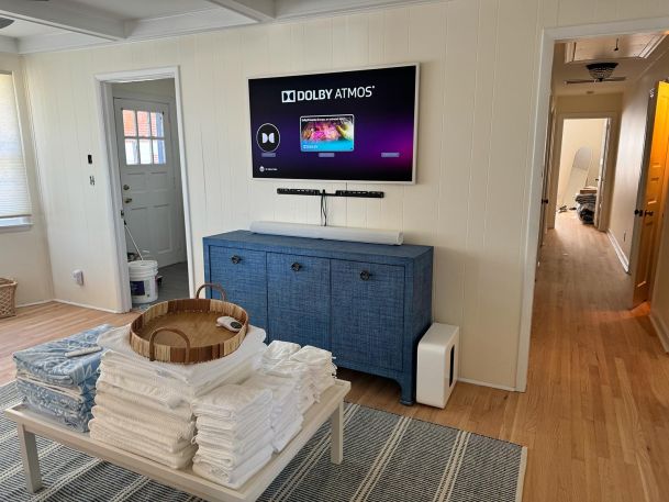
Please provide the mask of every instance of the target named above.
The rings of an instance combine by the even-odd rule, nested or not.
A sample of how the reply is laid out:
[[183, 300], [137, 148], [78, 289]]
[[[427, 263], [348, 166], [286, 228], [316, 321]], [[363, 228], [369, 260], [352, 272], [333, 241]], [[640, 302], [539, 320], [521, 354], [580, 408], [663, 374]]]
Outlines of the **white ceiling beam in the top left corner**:
[[101, 15], [66, 0], [58, 3], [0, 0], [0, 15], [110, 41], [125, 38], [125, 30], [121, 20]]

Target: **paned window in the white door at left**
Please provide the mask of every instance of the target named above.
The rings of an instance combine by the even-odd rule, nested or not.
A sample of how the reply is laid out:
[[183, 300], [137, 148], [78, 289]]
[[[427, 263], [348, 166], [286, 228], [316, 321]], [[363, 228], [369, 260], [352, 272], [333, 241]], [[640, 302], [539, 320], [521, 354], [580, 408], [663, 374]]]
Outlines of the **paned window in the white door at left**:
[[165, 125], [160, 112], [123, 110], [127, 166], [165, 164]]

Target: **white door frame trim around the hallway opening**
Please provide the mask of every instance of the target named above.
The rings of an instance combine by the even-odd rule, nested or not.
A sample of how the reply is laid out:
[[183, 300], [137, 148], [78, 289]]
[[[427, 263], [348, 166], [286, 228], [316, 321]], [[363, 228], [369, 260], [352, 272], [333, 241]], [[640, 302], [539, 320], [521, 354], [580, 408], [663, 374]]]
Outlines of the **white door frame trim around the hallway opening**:
[[528, 159], [529, 198], [524, 214], [523, 235], [523, 285], [520, 322], [520, 339], [516, 357], [515, 390], [527, 389], [527, 370], [529, 368], [529, 341], [532, 336], [532, 314], [534, 310], [534, 286], [536, 278], [536, 259], [538, 254], [538, 232], [540, 228], [542, 174], [546, 149], [546, 127], [550, 105], [550, 82], [553, 77], [554, 44], [560, 41], [589, 38], [595, 36], [624, 35], [666, 31], [669, 18], [649, 18], [612, 23], [580, 24], [564, 27], [544, 29], [537, 36], [536, 87], [531, 114], [531, 145]]

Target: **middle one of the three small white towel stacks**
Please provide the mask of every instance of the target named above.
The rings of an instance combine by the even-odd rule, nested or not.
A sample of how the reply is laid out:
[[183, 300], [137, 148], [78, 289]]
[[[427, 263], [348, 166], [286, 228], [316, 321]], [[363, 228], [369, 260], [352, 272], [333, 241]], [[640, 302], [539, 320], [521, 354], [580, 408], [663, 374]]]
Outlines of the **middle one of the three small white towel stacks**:
[[243, 383], [245, 388], [269, 389], [271, 391], [271, 445], [281, 451], [302, 428], [302, 413], [299, 408], [297, 382], [292, 378], [256, 373]]

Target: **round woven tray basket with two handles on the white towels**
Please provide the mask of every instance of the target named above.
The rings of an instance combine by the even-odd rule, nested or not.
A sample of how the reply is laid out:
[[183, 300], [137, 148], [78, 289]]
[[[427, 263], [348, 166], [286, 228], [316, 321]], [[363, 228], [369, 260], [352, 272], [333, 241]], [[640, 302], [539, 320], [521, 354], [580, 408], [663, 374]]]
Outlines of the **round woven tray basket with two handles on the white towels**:
[[[200, 291], [212, 288], [221, 300], [200, 299]], [[164, 362], [205, 362], [234, 353], [246, 336], [248, 314], [225, 300], [225, 291], [216, 285], [202, 285], [196, 298], [169, 300], [152, 305], [140, 315], [130, 330], [130, 344], [137, 354]], [[216, 319], [230, 315], [242, 328], [231, 332], [216, 325]]]

